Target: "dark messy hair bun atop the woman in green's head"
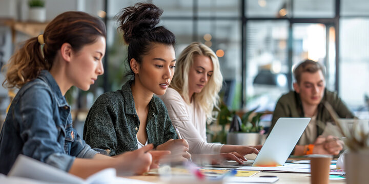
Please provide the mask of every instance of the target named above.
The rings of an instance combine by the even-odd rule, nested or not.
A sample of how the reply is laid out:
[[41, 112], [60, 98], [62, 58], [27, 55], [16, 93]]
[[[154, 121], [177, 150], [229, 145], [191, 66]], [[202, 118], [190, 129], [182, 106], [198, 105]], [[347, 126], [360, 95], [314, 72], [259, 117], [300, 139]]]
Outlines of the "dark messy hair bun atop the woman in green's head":
[[155, 28], [160, 22], [162, 10], [153, 4], [137, 3], [124, 8], [118, 14], [118, 30], [124, 33], [126, 43], [132, 38], [144, 36], [146, 32]]

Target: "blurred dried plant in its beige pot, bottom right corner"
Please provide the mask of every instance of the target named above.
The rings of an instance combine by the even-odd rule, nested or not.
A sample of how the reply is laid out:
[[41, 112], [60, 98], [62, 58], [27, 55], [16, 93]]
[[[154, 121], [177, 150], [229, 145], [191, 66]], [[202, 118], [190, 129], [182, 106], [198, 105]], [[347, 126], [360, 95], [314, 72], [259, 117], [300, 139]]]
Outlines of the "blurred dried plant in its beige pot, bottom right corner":
[[[324, 103], [330, 112], [339, 133], [345, 137], [347, 152], [342, 153], [346, 183], [356, 184], [369, 181], [369, 124], [368, 120], [354, 120], [354, 123], [342, 123], [329, 103]], [[339, 158], [340, 159], [340, 158]]]

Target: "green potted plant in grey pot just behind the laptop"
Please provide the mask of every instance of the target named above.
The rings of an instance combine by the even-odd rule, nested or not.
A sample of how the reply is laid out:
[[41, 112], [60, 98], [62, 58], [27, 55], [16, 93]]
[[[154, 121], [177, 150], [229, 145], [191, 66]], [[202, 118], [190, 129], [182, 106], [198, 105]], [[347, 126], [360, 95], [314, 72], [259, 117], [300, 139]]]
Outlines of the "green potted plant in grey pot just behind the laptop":
[[259, 122], [265, 112], [255, 112], [256, 109], [244, 113], [242, 119], [234, 114], [230, 132], [227, 135], [227, 144], [245, 146], [261, 144], [261, 136], [265, 131]]

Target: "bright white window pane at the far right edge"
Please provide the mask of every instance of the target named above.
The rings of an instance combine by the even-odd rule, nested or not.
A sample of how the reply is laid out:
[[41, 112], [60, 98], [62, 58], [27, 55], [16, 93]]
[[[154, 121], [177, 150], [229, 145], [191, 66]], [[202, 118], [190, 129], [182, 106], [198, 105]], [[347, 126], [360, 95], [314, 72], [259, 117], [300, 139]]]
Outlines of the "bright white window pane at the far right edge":
[[369, 2], [341, 0], [339, 31], [339, 95], [369, 119]]

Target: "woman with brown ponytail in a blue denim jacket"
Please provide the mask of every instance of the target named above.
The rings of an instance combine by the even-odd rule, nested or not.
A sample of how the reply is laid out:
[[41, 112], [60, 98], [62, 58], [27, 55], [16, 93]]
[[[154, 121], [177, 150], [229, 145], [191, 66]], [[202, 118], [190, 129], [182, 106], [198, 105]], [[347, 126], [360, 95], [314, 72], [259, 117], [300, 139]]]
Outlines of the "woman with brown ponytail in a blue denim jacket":
[[153, 159], [170, 152], [153, 145], [115, 158], [98, 154], [72, 128], [67, 90], [88, 90], [104, 73], [104, 23], [87, 13], [65, 12], [44, 34], [27, 40], [10, 59], [3, 85], [17, 87], [0, 134], [0, 173], [8, 174], [19, 154], [79, 177], [105, 169], [141, 174]]

